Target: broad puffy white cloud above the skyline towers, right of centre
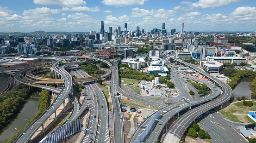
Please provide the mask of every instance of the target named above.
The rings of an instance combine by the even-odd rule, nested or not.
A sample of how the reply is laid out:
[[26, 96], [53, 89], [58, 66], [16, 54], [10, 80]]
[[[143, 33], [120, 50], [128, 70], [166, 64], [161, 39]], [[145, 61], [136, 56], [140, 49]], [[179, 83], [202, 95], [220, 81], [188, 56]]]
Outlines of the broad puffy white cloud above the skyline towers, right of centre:
[[144, 20], [146, 19], [168, 19], [170, 17], [173, 17], [176, 11], [173, 10], [145, 10], [145, 9], [139, 9], [138, 7], [132, 8], [131, 11], [131, 17], [143, 17]]

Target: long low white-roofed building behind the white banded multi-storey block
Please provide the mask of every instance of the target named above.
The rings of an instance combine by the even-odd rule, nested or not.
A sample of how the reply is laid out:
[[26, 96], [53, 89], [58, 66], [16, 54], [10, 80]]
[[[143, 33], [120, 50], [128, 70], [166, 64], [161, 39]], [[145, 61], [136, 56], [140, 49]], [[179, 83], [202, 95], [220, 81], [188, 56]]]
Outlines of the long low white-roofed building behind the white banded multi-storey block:
[[217, 61], [219, 63], [237, 63], [240, 65], [241, 62], [247, 63], [246, 58], [243, 57], [206, 57], [206, 61]]

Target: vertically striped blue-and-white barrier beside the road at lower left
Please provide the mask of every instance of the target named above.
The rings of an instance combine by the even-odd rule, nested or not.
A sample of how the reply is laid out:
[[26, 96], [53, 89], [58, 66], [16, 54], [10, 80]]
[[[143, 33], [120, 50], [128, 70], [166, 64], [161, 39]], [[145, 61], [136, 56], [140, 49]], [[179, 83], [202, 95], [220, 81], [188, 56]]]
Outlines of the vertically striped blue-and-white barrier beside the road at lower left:
[[58, 127], [50, 133], [49, 136], [44, 137], [39, 143], [59, 143], [64, 138], [81, 131], [81, 119], [73, 120], [63, 126]]

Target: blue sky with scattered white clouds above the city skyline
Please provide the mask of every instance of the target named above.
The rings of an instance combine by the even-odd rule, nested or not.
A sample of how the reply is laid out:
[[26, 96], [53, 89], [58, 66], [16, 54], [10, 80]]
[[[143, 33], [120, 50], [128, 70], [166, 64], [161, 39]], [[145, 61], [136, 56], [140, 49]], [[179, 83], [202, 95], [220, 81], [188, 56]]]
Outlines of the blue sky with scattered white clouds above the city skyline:
[[256, 0], [1, 0], [0, 32], [256, 31]]

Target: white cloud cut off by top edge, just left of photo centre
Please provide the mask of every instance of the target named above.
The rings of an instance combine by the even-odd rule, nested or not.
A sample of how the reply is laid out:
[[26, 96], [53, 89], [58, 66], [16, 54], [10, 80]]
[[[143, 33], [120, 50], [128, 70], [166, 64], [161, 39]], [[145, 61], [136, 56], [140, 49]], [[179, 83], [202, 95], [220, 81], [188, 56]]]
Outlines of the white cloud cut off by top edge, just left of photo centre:
[[148, 0], [103, 0], [101, 3], [107, 6], [132, 6], [132, 5], [144, 5], [144, 2]]

